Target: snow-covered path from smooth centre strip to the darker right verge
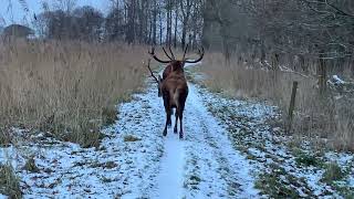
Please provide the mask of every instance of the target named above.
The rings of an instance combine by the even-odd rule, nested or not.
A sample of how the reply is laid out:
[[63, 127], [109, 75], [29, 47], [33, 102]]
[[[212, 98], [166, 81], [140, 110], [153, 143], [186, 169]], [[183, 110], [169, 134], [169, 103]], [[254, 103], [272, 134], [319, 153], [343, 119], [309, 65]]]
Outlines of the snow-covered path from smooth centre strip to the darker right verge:
[[[164, 138], [157, 189], [153, 197], [250, 198], [257, 196], [258, 191], [253, 189], [253, 179], [250, 175], [251, 166], [233, 149], [227, 132], [207, 111], [201, 95], [195, 85], [189, 84], [184, 117], [186, 138], [179, 140], [173, 129], [169, 129], [167, 137]], [[162, 101], [162, 98], [153, 97], [149, 101], [152, 104], [158, 104], [155, 101]], [[164, 112], [162, 102], [156, 108], [150, 111]], [[160, 136], [164, 122], [163, 116], [158, 121], [160, 127], [157, 134]]]

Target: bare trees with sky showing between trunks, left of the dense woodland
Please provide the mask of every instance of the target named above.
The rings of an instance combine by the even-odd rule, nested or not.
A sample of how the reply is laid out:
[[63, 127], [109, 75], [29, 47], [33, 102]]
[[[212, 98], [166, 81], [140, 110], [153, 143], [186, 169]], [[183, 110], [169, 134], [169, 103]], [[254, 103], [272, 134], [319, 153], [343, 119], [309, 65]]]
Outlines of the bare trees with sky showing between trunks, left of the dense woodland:
[[115, 0], [107, 14], [61, 2], [64, 6], [55, 10], [43, 4], [44, 11], [34, 17], [40, 36], [175, 46], [200, 43], [202, 0]]

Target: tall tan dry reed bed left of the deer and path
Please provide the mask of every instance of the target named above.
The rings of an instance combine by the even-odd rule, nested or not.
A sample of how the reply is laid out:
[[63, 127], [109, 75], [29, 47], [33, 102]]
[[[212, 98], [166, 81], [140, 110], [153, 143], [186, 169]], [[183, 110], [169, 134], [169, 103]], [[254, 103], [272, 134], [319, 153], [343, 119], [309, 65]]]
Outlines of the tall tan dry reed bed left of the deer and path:
[[113, 123], [114, 105], [142, 86], [146, 51], [122, 43], [1, 43], [0, 125], [87, 144], [84, 137]]

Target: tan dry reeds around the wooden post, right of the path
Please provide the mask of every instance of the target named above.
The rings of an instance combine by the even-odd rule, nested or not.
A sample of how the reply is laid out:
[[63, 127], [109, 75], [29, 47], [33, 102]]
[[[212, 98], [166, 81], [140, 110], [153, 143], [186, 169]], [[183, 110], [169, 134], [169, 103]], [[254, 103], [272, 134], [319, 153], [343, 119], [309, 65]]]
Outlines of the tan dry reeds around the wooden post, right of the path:
[[298, 81], [294, 135], [308, 135], [317, 146], [325, 144], [336, 149], [354, 149], [353, 103], [321, 97], [316, 80], [294, 73], [247, 69], [236, 60], [227, 65], [220, 54], [207, 54], [204, 63], [200, 70], [209, 76], [205, 81], [208, 87], [238, 98], [270, 101], [280, 107], [284, 116], [290, 104], [292, 82]]

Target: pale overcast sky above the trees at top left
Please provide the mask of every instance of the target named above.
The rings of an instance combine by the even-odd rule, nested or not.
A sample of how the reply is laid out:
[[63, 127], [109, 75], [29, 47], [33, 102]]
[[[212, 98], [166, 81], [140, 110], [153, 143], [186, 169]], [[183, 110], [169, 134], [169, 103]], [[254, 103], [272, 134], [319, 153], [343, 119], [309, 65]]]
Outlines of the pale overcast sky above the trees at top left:
[[[41, 12], [41, 2], [45, 1], [49, 4], [53, 2], [53, 0], [27, 0], [25, 2], [28, 3], [30, 13], [25, 14], [19, 0], [10, 1], [12, 2], [12, 9], [9, 9], [9, 0], [0, 0], [0, 25], [9, 25], [11, 23], [25, 24], [25, 18], [28, 23], [30, 23], [33, 13]], [[108, 11], [110, 0], [77, 0], [77, 6], [92, 6], [103, 13], [106, 13]]]

